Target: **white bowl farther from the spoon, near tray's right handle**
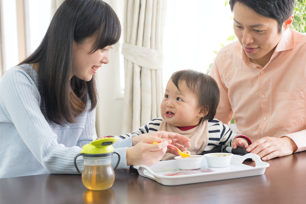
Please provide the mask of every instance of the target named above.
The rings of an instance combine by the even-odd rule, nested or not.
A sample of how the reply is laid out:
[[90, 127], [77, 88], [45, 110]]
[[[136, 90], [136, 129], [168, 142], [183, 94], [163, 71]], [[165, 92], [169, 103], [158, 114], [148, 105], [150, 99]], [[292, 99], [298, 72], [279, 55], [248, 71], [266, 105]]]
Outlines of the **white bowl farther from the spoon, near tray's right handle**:
[[228, 167], [230, 166], [230, 159], [232, 157], [232, 153], [208, 153], [204, 154], [207, 165], [209, 167]]

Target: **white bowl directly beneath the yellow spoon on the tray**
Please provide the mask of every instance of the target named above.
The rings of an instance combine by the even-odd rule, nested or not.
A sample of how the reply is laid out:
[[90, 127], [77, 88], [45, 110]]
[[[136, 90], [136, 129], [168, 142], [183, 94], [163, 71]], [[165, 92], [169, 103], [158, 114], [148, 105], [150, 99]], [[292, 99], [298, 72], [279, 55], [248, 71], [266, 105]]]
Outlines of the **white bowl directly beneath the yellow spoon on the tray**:
[[203, 155], [190, 155], [182, 158], [176, 156], [174, 159], [177, 161], [178, 167], [182, 170], [199, 169], [203, 160]]

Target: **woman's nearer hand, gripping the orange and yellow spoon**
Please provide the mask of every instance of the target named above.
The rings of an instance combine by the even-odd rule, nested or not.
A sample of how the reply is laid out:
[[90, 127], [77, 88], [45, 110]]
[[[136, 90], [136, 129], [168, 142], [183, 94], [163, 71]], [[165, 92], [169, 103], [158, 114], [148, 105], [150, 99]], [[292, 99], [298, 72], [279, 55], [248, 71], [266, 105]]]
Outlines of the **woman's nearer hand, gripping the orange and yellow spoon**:
[[[158, 144], [152, 144], [158, 142]], [[162, 159], [167, 151], [168, 140], [159, 137], [147, 137], [133, 147], [126, 149], [126, 164], [152, 166]]]

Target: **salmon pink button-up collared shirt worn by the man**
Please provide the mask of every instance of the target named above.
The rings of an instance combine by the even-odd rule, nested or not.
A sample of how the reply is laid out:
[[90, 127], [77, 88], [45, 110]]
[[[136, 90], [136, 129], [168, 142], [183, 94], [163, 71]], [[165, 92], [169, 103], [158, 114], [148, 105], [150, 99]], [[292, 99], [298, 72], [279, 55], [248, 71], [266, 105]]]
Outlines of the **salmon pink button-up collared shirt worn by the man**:
[[252, 141], [287, 136], [296, 152], [306, 150], [306, 34], [284, 31], [264, 67], [233, 42], [218, 52], [210, 75], [220, 87], [215, 118], [228, 124], [234, 114], [238, 133]]

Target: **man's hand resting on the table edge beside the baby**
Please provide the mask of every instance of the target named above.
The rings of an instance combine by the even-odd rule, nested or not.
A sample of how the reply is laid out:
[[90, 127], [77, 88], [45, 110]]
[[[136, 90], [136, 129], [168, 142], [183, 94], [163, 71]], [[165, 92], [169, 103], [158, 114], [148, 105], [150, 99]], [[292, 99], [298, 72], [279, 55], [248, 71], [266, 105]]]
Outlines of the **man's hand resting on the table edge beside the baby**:
[[297, 145], [289, 137], [263, 137], [250, 144], [247, 148], [247, 152], [257, 154], [263, 161], [287, 156], [296, 150]]

